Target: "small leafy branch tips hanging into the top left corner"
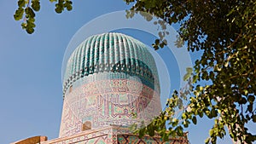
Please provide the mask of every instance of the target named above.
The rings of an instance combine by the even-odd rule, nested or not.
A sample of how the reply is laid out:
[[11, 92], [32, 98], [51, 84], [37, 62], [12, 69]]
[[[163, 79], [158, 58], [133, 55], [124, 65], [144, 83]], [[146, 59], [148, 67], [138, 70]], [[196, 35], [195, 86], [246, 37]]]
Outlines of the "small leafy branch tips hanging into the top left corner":
[[[51, 3], [57, 2], [57, 0], [49, 1]], [[35, 12], [38, 12], [40, 8], [40, 0], [18, 0], [18, 9], [15, 11], [14, 18], [15, 20], [23, 20], [21, 27], [29, 34], [32, 34], [35, 31]], [[60, 14], [65, 8], [68, 11], [72, 10], [72, 1], [58, 0], [58, 2], [55, 3], [56, 13]]]

